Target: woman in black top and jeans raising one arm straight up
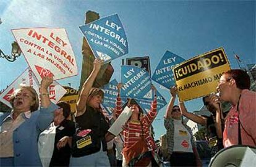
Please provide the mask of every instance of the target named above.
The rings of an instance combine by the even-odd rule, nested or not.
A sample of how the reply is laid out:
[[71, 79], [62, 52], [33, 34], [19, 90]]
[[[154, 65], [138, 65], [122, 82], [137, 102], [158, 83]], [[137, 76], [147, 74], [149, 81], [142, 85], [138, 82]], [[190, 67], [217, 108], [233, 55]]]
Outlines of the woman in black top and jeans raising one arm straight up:
[[103, 65], [103, 60], [95, 59], [93, 71], [83, 84], [80, 92], [75, 113], [78, 130], [90, 129], [93, 131], [93, 134], [96, 136], [96, 145], [100, 146], [100, 149], [93, 150], [90, 155], [78, 158], [72, 157], [70, 166], [109, 166], [105, 140], [105, 134], [108, 132], [109, 125], [100, 107], [100, 104], [103, 102], [104, 93], [101, 89], [92, 88], [101, 65]]

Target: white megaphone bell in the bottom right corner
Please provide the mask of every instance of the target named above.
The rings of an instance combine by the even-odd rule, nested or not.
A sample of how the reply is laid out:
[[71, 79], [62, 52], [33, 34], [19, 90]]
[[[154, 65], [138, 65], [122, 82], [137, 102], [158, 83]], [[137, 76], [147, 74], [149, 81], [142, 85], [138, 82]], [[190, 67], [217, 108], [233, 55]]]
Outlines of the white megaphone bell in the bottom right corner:
[[256, 147], [233, 145], [221, 149], [210, 161], [210, 167], [256, 166]]

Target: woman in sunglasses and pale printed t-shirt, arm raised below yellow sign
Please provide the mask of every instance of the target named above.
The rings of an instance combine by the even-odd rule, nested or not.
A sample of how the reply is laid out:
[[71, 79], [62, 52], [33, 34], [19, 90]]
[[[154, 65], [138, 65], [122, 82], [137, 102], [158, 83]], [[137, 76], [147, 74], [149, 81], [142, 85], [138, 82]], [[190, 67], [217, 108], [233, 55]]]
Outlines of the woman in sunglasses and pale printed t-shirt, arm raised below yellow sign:
[[198, 157], [192, 131], [182, 121], [180, 107], [185, 107], [183, 102], [174, 105], [177, 88], [170, 89], [169, 101], [164, 115], [164, 126], [167, 130], [168, 154], [171, 166], [202, 166]]

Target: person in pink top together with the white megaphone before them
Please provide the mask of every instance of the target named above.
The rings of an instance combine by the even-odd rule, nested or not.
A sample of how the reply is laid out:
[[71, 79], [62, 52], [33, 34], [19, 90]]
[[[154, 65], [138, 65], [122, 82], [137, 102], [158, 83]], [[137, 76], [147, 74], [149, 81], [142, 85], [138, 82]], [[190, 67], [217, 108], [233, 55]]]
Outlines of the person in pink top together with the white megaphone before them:
[[241, 69], [223, 73], [217, 86], [220, 97], [211, 102], [230, 102], [225, 118], [224, 149], [216, 153], [209, 166], [255, 166], [256, 163], [256, 92], [249, 91], [250, 77]]

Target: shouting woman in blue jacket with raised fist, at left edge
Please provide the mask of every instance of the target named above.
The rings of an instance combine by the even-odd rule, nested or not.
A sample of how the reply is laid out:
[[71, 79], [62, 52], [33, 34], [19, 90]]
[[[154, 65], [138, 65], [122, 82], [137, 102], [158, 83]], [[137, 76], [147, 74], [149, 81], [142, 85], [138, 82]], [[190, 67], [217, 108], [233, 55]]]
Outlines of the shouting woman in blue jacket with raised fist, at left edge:
[[12, 112], [0, 122], [0, 166], [41, 166], [38, 136], [53, 121], [57, 105], [49, 100], [52, 77], [41, 81], [41, 107], [35, 89], [22, 86], [10, 98]]

